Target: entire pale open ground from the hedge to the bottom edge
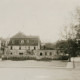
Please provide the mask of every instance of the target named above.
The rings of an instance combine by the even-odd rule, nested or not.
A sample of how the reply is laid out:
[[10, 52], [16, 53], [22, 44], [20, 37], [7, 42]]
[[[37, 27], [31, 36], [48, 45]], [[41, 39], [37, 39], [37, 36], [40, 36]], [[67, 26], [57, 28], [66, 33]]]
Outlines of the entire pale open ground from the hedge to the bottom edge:
[[0, 61], [0, 80], [80, 80], [79, 60], [75, 68], [68, 61]]

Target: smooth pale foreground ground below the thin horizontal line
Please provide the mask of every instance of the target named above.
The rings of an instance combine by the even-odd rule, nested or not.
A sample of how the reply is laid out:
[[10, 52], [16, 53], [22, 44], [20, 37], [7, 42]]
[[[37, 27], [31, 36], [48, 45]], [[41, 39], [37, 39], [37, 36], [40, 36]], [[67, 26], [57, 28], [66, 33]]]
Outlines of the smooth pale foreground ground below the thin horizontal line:
[[50, 68], [1, 68], [0, 80], [75, 80], [71, 70]]

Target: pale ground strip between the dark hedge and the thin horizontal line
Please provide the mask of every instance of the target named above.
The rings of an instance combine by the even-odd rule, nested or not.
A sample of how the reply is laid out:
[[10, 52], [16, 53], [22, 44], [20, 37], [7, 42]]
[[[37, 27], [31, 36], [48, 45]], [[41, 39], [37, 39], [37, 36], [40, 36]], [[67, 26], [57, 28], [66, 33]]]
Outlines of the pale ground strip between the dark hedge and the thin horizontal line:
[[0, 67], [8, 68], [28, 68], [28, 67], [47, 67], [47, 68], [64, 68], [66, 67], [68, 61], [36, 61], [36, 60], [26, 60], [26, 61], [10, 61], [4, 60], [0, 61]]

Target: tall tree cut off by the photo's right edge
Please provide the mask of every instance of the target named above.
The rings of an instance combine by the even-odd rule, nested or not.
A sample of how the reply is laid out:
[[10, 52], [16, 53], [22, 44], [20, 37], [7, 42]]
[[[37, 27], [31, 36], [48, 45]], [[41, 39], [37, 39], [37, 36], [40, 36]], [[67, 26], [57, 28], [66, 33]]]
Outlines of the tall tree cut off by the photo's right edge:
[[73, 25], [74, 25], [74, 30], [76, 32], [77, 52], [79, 52], [79, 49], [80, 49], [80, 7], [77, 7], [75, 9], [73, 17], [75, 19], [75, 23], [73, 23]]

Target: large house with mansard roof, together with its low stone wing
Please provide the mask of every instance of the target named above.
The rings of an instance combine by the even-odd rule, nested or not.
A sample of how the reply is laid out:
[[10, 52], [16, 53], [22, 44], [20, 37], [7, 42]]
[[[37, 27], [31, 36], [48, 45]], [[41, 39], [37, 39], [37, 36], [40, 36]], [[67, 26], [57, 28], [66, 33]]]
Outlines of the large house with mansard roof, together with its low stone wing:
[[19, 32], [10, 38], [2, 58], [59, 59], [60, 55], [57, 54], [57, 50], [47, 50], [41, 48], [41, 45], [38, 36], [26, 36]]

